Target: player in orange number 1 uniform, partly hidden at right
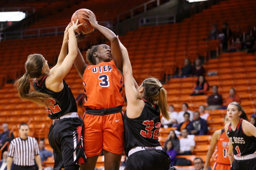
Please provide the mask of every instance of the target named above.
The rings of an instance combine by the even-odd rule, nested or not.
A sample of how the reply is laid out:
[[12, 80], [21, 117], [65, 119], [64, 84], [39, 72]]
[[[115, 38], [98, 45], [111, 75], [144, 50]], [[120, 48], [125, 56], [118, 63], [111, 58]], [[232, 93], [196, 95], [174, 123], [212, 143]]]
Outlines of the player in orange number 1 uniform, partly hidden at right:
[[[224, 124], [229, 122], [228, 116], [224, 117]], [[205, 160], [204, 170], [208, 170], [208, 164], [210, 158], [215, 150], [215, 146], [217, 144], [217, 158], [215, 160], [213, 169], [214, 170], [230, 170], [230, 161], [228, 158], [228, 145], [229, 138], [227, 138], [225, 129], [217, 130], [213, 133], [210, 148], [207, 152], [207, 157]]]

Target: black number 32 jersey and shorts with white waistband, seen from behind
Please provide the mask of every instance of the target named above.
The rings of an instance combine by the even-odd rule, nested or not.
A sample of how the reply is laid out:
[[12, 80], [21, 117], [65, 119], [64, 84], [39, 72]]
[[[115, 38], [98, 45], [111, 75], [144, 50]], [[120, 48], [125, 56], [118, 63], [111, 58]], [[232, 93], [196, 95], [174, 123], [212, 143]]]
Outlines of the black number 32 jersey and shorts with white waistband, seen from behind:
[[126, 112], [124, 115], [126, 169], [169, 169], [170, 156], [158, 141], [160, 110], [142, 100], [145, 106], [138, 118], [129, 118]]

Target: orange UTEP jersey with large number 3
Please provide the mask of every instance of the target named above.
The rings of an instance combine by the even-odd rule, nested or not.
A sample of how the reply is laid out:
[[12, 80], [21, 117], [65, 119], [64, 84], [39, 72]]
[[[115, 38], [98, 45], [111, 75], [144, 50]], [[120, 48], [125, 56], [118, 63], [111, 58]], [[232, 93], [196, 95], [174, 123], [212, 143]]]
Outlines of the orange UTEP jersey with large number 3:
[[114, 61], [88, 65], [84, 71], [84, 107], [108, 109], [123, 106], [123, 76]]

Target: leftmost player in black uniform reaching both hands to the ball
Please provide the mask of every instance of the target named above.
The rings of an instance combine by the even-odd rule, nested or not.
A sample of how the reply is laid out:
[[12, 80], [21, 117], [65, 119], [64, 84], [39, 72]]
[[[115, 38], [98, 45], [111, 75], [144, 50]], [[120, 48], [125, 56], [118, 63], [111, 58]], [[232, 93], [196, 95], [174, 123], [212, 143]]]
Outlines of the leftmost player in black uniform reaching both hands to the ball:
[[[53, 148], [54, 170], [78, 170], [78, 164], [86, 162], [81, 136], [83, 121], [77, 114], [75, 98], [63, 80], [77, 56], [74, 30], [81, 25], [77, 23], [78, 20], [66, 27], [61, 52], [52, 69], [41, 54], [31, 54], [25, 63], [26, 73], [15, 82], [19, 96], [45, 106], [53, 120], [48, 139]], [[66, 56], [68, 39], [69, 54]], [[34, 78], [33, 92], [29, 78]]]

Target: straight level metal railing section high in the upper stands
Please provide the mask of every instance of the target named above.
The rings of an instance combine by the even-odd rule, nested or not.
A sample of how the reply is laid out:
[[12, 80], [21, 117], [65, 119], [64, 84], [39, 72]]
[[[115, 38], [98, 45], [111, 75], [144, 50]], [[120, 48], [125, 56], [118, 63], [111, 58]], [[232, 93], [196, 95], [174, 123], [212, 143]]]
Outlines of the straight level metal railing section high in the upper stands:
[[175, 15], [149, 16], [139, 19], [139, 26], [176, 23]]

